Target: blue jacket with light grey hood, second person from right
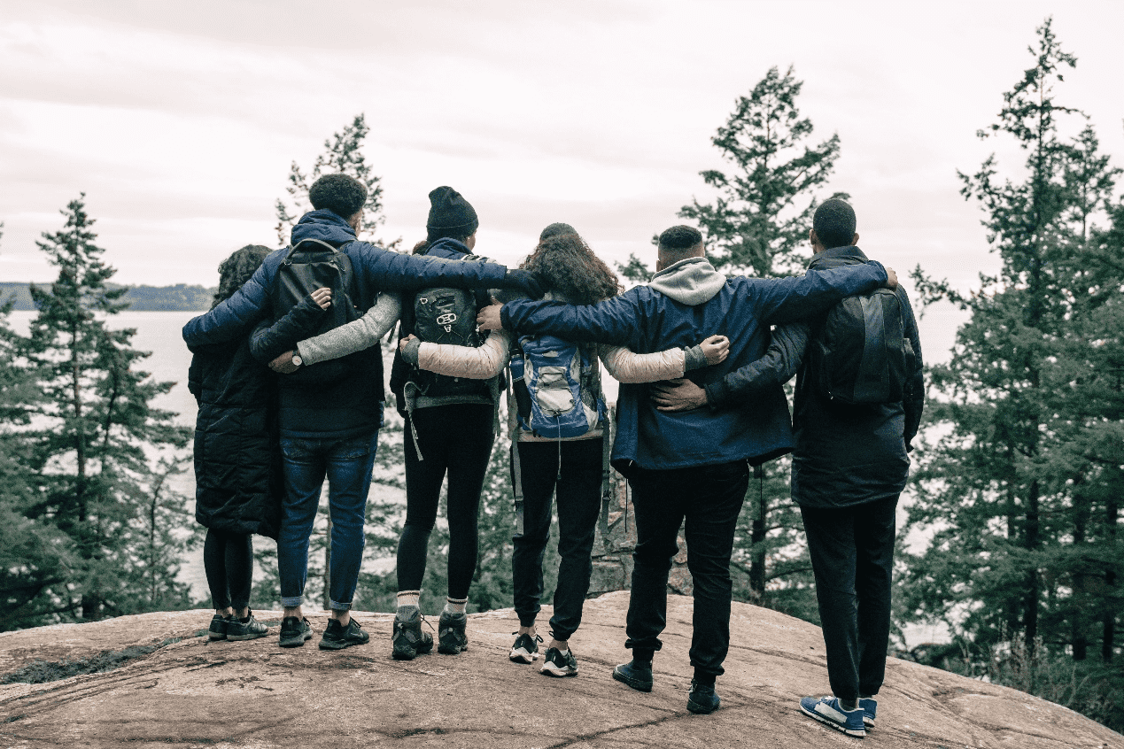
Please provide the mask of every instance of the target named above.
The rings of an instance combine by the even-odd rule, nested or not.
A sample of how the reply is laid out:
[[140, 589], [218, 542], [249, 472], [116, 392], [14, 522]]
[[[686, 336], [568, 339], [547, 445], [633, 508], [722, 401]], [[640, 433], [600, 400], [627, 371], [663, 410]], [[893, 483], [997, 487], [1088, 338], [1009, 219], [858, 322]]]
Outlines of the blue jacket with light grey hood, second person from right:
[[[522, 334], [551, 334], [572, 340], [627, 346], [650, 354], [690, 347], [707, 336], [729, 338], [729, 357], [696, 369], [696, 384], [722, 380], [764, 354], [769, 326], [824, 310], [844, 296], [886, 282], [878, 263], [813, 271], [792, 278], [727, 278], [705, 258], [689, 258], [661, 271], [649, 285], [588, 307], [515, 301], [504, 305], [504, 327]], [[746, 408], [714, 412], [655, 409], [646, 384], [622, 384], [613, 465], [625, 476], [634, 467], [667, 471], [733, 460], [759, 464], [792, 449], [788, 401], [780, 385]]]

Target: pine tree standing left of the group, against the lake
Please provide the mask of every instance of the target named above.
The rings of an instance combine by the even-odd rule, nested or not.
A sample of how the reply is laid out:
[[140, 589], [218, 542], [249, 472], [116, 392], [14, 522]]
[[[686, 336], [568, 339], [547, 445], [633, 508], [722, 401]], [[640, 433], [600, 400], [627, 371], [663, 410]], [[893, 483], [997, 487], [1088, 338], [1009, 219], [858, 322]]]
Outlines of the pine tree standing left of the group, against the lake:
[[[94, 244], [84, 195], [62, 212], [64, 228], [37, 243], [58, 278], [48, 289], [30, 289], [38, 314], [25, 353], [43, 402], [22, 432], [37, 496], [26, 514], [65, 533], [79, 560], [65, 585], [40, 595], [90, 620], [136, 610], [138, 581], [130, 569], [144, 564], [139, 510], [156, 491], [152, 463], [183, 448], [189, 430], [173, 424], [172, 412], [149, 405], [173, 383], [137, 371], [148, 354], [129, 346], [135, 330], [107, 325], [126, 307], [126, 289], [107, 285], [115, 271]], [[174, 591], [176, 565], [165, 561], [146, 570], [145, 584], [160, 578]]]

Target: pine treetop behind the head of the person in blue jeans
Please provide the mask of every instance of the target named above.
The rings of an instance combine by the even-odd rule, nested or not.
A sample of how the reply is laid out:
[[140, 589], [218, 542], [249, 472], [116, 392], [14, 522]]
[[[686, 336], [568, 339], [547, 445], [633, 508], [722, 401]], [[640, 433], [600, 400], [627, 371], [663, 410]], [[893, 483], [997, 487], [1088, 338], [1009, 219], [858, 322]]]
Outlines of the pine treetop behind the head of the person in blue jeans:
[[[303, 213], [312, 210], [312, 205], [308, 201], [308, 189], [312, 183], [325, 174], [338, 173], [350, 174], [366, 185], [363, 223], [356, 234], [360, 239], [382, 244], [374, 238], [374, 232], [387, 220], [387, 217], [382, 214], [382, 177], [371, 171], [371, 165], [366, 163], [366, 157], [363, 155], [363, 140], [370, 131], [371, 128], [366, 125], [365, 116], [356, 115], [343, 130], [334, 133], [330, 138], [324, 141], [325, 150], [316, 157], [311, 173], [306, 175], [297, 162], [292, 163], [289, 167], [289, 186], [285, 188], [289, 198], [279, 198], [275, 204], [277, 232], [280, 244], [289, 244], [289, 234], [293, 225]], [[401, 244], [400, 237], [383, 246], [396, 249], [399, 244]]]

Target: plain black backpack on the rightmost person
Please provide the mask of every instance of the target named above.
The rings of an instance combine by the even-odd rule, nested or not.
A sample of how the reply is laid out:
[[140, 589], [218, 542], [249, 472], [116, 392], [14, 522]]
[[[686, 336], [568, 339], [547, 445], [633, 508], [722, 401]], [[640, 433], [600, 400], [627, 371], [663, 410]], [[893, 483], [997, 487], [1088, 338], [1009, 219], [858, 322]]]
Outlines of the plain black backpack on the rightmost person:
[[841, 301], [828, 310], [809, 348], [812, 378], [822, 396], [855, 404], [903, 400], [914, 351], [894, 290]]

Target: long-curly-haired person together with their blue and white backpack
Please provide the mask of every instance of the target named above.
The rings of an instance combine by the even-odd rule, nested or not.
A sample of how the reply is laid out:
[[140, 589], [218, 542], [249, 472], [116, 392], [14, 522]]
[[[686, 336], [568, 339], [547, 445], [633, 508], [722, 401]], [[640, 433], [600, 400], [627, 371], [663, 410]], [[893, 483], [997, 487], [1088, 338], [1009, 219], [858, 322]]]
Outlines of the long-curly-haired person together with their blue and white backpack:
[[[520, 266], [536, 274], [549, 299], [591, 304], [620, 291], [616, 274], [565, 223], [543, 229], [538, 246]], [[474, 320], [473, 320], [474, 321]], [[610, 423], [598, 360], [620, 382], [655, 382], [726, 357], [727, 342], [711, 336], [690, 348], [634, 354], [623, 346], [574, 342], [554, 336], [496, 330], [479, 347], [443, 345], [408, 337], [404, 358], [447, 377], [487, 382], [509, 367], [508, 426], [516, 531], [511, 579], [519, 630], [509, 659], [531, 664], [542, 641], [535, 620], [543, 595], [543, 555], [550, 538], [552, 499], [558, 501], [559, 556], [552, 639], [544, 654], [546, 676], [577, 676], [570, 638], [581, 623], [589, 590], [598, 517], [607, 512]]]

